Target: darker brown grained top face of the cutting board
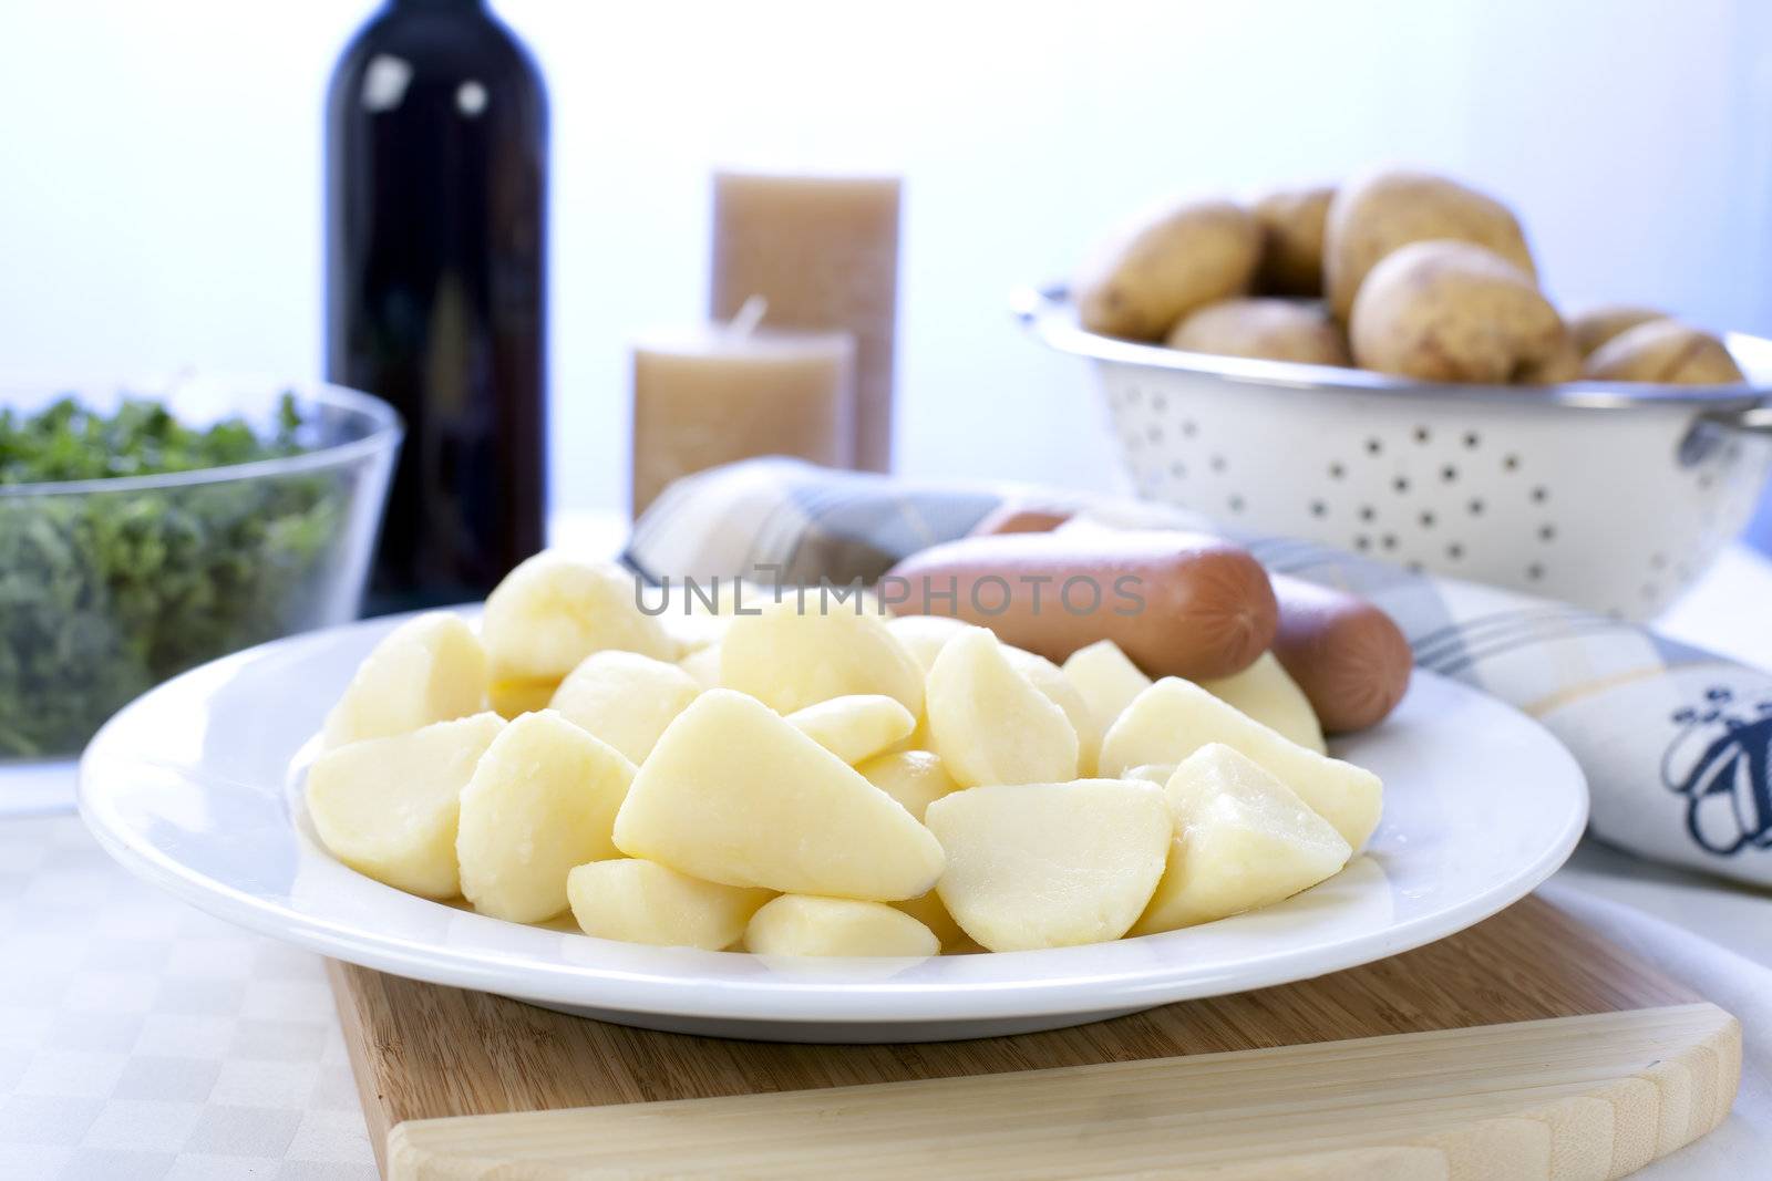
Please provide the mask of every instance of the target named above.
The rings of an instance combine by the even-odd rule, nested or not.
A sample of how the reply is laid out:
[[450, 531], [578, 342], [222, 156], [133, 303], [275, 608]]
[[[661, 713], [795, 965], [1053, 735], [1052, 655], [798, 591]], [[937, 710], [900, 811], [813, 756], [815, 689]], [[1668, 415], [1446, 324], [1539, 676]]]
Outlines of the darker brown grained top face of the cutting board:
[[1699, 1000], [1536, 898], [1451, 938], [1315, 981], [982, 1041], [719, 1041], [351, 965], [335, 963], [331, 974], [377, 1153], [411, 1119], [1136, 1062]]

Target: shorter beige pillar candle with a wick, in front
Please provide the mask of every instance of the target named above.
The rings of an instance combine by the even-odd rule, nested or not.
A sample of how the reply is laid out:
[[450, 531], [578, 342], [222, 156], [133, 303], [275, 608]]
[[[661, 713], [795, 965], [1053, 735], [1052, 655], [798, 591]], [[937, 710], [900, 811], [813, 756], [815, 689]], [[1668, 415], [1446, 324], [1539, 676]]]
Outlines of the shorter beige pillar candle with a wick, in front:
[[707, 324], [634, 343], [638, 517], [672, 480], [755, 455], [854, 459], [849, 333]]

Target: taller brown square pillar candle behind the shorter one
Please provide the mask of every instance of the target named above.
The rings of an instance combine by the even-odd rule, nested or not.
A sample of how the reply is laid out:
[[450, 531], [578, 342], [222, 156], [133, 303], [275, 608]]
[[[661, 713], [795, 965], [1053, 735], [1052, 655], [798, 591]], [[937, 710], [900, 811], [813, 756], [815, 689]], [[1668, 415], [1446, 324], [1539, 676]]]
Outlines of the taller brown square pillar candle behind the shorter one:
[[712, 317], [762, 296], [773, 324], [854, 335], [863, 471], [891, 469], [898, 195], [897, 177], [714, 174]]

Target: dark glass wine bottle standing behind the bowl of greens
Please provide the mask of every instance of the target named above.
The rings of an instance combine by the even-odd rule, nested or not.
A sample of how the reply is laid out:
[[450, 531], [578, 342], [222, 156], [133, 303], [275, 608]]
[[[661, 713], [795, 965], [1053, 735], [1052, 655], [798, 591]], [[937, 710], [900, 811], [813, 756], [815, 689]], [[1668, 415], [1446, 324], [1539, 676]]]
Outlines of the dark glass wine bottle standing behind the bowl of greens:
[[367, 614], [542, 547], [548, 97], [484, 0], [388, 0], [326, 101], [326, 372], [406, 418]]

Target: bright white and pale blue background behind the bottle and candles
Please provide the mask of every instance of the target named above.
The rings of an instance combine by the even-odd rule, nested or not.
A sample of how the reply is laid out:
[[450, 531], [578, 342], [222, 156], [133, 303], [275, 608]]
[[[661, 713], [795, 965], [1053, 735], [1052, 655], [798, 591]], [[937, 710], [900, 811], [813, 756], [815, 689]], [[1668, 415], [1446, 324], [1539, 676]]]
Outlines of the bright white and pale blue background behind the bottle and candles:
[[[0, 0], [0, 368], [319, 372], [321, 96], [367, 0]], [[1554, 296], [1772, 331], [1772, 5], [498, 0], [553, 101], [555, 501], [705, 303], [714, 163], [907, 175], [902, 469], [1115, 480], [1005, 315], [1170, 189], [1449, 168]]]

